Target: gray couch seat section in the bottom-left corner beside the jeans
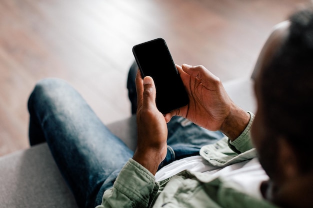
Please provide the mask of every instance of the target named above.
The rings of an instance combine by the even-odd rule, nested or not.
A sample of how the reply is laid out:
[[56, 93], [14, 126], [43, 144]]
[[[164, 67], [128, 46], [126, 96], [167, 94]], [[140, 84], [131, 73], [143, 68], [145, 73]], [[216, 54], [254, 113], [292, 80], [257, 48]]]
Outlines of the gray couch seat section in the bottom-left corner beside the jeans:
[[0, 158], [1, 208], [77, 208], [46, 144]]

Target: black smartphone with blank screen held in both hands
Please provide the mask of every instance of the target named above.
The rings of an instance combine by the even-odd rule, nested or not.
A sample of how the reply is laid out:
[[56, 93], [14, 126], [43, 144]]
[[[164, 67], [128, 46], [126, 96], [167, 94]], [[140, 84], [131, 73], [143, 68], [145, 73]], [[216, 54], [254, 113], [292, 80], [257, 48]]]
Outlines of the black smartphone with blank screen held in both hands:
[[141, 76], [152, 77], [156, 88], [156, 107], [165, 114], [189, 103], [188, 94], [162, 38], [132, 48]]

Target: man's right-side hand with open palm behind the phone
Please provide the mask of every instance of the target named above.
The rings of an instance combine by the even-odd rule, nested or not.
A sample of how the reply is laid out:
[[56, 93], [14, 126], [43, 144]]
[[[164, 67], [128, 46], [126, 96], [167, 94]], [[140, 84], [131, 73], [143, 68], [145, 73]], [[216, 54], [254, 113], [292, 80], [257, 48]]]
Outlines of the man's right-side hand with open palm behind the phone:
[[165, 115], [178, 115], [208, 130], [222, 131], [231, 140], [238, 137], [249, 121], [249, 114], [227, 95], [219, 78], [203, 66], [176, 65], [189, 95], [189, 104]]

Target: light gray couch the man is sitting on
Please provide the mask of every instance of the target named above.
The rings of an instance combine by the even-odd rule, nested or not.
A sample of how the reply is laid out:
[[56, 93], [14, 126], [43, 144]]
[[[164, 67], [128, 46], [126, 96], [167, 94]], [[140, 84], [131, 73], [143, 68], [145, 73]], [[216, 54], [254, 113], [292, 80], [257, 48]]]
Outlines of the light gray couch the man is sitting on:
[[[224, 83], [231, 99], [254, 112], [253, 79]], [[136, 143], [135, 117], [108, 125], [129, 148]], [[62, 179], [46, 144], [0, 158], [1, 208], [76, 208], [74, 198]]]

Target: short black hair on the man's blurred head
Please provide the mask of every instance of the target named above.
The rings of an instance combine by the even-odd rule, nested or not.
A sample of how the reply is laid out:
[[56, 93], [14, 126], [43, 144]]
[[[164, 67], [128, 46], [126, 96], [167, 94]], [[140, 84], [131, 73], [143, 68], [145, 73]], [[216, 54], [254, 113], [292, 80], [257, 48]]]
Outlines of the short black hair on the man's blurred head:
[[[288, 35], [260, 74], [265, 125], [313, 169], [313, 8], [290, 16]], [[273, 139], [273, 138], [272, 138]]]

